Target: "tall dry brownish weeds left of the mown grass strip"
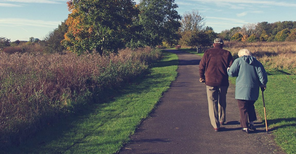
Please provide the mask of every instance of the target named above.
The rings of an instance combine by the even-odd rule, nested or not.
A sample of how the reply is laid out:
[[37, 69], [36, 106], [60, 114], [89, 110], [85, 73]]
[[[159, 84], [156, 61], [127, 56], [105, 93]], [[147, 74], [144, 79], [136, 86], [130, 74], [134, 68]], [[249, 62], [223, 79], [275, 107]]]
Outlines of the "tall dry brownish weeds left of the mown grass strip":
[[22, 141], [59, 113], [134, 78], [159, 58], [160, 52], [151, 48], [110, 56], [0, 53], [1, 145]]

